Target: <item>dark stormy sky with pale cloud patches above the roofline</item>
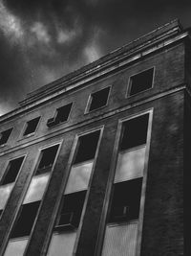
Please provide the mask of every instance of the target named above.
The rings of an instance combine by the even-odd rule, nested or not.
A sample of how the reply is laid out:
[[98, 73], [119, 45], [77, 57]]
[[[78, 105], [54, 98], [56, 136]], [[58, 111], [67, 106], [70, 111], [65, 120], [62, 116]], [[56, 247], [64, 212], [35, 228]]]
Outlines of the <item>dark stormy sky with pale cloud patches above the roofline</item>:
[[190, 0], [0, 0], [0, 115], [175, 18], [191, 27]]

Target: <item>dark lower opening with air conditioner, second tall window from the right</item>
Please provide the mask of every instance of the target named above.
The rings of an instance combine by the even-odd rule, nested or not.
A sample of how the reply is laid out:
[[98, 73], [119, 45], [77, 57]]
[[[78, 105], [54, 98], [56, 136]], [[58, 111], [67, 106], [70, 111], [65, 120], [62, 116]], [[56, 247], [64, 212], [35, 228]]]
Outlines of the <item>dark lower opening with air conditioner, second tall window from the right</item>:
[[63, 197], [63, 204], [55, 229], [74, 229], [79, 225], [86, 191], [76, 192]]

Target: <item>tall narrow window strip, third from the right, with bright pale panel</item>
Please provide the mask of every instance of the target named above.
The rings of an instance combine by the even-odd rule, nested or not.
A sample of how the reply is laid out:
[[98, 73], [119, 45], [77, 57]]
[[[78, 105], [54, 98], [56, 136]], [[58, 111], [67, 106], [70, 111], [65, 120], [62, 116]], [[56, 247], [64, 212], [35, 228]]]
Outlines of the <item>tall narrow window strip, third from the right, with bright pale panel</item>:
[[51, 168], [55, 160], [59, 145], [44, 149], [40, 153], [36, 173], [32, 177], [27, 194], [19, 209], [16, 221], [11, 230], [11, 237], [7, 245], [5, 256], [24, 255], [32, 228], [37, 218], [40, 202], [45, 193]]

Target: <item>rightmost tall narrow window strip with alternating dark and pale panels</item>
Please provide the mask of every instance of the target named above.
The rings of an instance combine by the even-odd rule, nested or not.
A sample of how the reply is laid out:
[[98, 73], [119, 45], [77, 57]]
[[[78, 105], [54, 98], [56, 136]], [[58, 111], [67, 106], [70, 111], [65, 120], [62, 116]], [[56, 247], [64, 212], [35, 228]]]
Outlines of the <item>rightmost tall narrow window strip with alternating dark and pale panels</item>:
[[148, 120], [144, 114], [122, 123], [102, 256], [136, 255]]

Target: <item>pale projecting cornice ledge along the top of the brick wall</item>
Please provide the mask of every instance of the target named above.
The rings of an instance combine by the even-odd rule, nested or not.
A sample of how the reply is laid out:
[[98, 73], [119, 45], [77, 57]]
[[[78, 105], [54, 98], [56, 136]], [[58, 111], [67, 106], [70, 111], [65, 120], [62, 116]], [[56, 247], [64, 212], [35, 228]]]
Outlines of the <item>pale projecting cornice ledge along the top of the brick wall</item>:
[[128, 52], [121, 51], [121, 53], [117, 55], [116, 58], [112, 58], [104, 62], [102, 65], [97, 65], [92, 70], [90, 69], [85, 71], [85, 74], [84, 73], [81, 73], [81, 75], [79, 74], [80, 79], [79, 77], [77, 77], [78, 81], [76, 77], [74, 77], [74, 79], [67, 81], [68, 83], [65, 83], [65, 86], [63, 86], [63, 84], [61, 83], [57, 84], [56, 87], [53, 88], [53, 90], [56, 90], [56, 91], [53, 92], [51, 90], [50, 92], [51, 94], [44, 96], [41, 99], [36, 99], [32, 103], [28, 102], [28, 104], [22, 105], [21, 107], [18, 107], [17, 109], [11, 111], [10, 113], [7, 113], [1, 116], [0, 123], [9, 120], [11, 117], [22, 114], [25, 111], [32, 109], [33, 107], [44, 104], [45, 102], [48, 102], [50, 100], [53, 100], [55, 97], [58, 97], [59, 95], [62, 95], [70, 90], [73, 90], [79, 86], [82, 86], [87, 82], [94, 81], [99, 77], [101, 78], [108, 74], [111, 74], [112, 72], [124, 67], [127, 64], [130, 64], [135, 60], [138, 60], [139, 58], [144, 58], [152, 53], [155, 53], [156, 51], [159, 51], [160, 49], [166, 46], [169, 46], [175, 42], [182, 40], [186, 36], [189, 36], [188, 32], [182, 32], [178, 34], [177, 29], [176, 29], [176, 35], [174, 35], [174, 33], [175, 33], [175, 30], [173, 29], [173, 32], [168, 31], [167, 34], [165, 34], [165, 38], [162, 36], [162, 38], [160, 39], [158, 37], [157, 41], [152, 40], [152, 41], [145, 42], [141, 46], [139, 45], [136, 49], [135, 48], [132, 49], [132, 51], [128, 51]]

